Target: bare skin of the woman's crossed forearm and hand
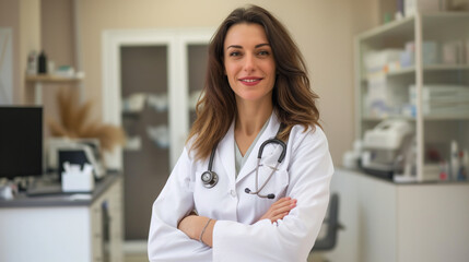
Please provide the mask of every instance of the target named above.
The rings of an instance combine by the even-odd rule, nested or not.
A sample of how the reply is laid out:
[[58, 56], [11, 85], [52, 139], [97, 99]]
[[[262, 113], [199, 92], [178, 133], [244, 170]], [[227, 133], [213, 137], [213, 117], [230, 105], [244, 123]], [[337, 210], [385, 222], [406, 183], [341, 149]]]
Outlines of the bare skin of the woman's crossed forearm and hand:
[[[270, 206], [270, 209], [259, 218], [259, 221], [270, 219], [271, 223], [274, 223], [286, 216], [295, 206], [295, 199], [281, 198]], [[194, 240], [201, 240], [207, 246], [212, 247], [213, 228], [215, 224], [216, 221], [214, 219], [206, 216], [198, 216], [191, 213], [179, 222], [177, 228], [185, 233], [189, 238]]]

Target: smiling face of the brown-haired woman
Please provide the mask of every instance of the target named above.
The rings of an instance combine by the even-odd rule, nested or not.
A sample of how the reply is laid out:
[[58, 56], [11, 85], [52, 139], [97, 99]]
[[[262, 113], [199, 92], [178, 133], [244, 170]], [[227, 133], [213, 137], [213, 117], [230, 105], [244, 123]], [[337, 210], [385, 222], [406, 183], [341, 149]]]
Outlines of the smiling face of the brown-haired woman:
[[226, 33], [224, 66], [236, 100], [271, 102], [275, 61], [263, 27], [235, 24]]

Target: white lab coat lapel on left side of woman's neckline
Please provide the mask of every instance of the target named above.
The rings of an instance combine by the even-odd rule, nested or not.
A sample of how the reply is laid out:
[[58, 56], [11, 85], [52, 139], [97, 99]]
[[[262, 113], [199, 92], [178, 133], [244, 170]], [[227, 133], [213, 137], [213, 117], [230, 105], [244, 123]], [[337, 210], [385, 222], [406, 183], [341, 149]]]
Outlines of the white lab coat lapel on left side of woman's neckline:
[[234, 121], [226, 132], [222, 141], [218, 145], [218, 152], [215, 155], [219, 156], [220, 162], [223, 164], [225, 172], [227, 175], [230, 184], [235, 182], [235, 148], [234, 148]]

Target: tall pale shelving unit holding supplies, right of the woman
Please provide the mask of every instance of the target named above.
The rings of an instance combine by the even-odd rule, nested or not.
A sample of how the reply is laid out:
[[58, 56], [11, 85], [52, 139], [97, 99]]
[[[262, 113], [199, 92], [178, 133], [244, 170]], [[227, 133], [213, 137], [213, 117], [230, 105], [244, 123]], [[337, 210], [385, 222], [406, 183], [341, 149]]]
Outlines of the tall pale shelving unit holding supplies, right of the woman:
[[[437, 174], [427, 174], [430, 165], [425, 154], [431, 146], [439, 150], [442, 157], [449, 160], [449, 143], [457, 141], [459, 150], [469, 148], [469, 114], [466, 110], [454, 110], [445, 114], [423, 114], [423, 86], [460, 85], [469, 90], [469, 56], [460, 53], [462, 63], [442, 63], [442, 46], [446, 41], [460, 40], [462, 49], [469, 52], [469, 13], [468, 12], [438, 12], [422, 14], [394, 21], [372, 28], [355, 37], [355, 100], [356, 100], [356, 135], [362, 139], [365, 131], [374, 128], [378, 122], [388, 118], [406, 119], [414, 124], [417, 141], [417, 181], [437, 180]], [[365, 67], [365, 57], [372, 51], [385, 49], [403, 49], [409, 41], [414, 43], [413, 64], [410, 67], [395, 67], [382, 73], [387, 90], [399, 94], [410, 104], [409, 88], [415, 85], [417, 99], [413, 116], [402, 114], [397, 108], [392, 114], [373, 115], [373, 108], [366, 105], [370, 80]], [[436, 43], [437, 62], [424, 63], [423, 43]], [[395, 105], [399, 106], [399, 105]], [[455, 107], [456, 108], [456, 107]], [[401, 109], [401, 108], [400, 108]], [[432, 147], [433, 148], [433, 147]]]

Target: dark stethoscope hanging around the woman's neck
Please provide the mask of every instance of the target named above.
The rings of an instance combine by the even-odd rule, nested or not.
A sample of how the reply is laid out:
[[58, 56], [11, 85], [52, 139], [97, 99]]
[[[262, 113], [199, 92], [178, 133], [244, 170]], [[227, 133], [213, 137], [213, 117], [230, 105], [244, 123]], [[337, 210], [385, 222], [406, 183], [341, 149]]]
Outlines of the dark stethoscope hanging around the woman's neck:
[[[257, 166], [256, 166], [256, 191], [251, 191], [249, 188], [246, 188], [244, 191], [248, 194], [257, 194], [259, 198], [267, 198], [267, 199], [274, 199], [275, 194], [270, 193], [270, 194], [261, 194], [260, 191], [262, 191], [262, 189], [266, 187], [266, 184], [269, 182], [269, 180], [272, 178], [273, 174], [278, 170], [277, 167], [279, 167], [280, 163], [282, 163], [283, 158], [285, 158], [285, 154], [286, 154], [286, 144], [279, 140], [277, 136], [279, 135], [279, 133], [281, 132], [281, 130], [283, 129], [283, 124], [280, 124], [279, 131], [277, 132], [275, 138], [273, 139], [269, 139], [266, 140], [259, 147], [259, 152], [257, 154]], [[260, 166], [260, 158], [262, 158], [262, 152], [263, 152], [263, 147], [266, 147], [266, 145], [268, 144], [279, 144], [280, 146], [282, 146], [282, 153], [279, 156], [279, 159], [277, 160], [277, 164], [274, 167], [272, 168], [272, 171], [270, 172], [269, 177], [266, 179], [266, 181], [262, 183], [262, 186], [260, 186], [260, 188], [258, 187], [258, 181], [259, 181], [259, 166]], [[216, 151], [216, 146], [215, 145], [212, 150], [212, 153], [210, 154], [210, 159], [209, 159], [209, 168], [207, 171], [204, 171], [201, 175], [201, 180], [203, 183], [203, 187], [210, 189], [213, 188], [218, 182], [219, 182], [219, 175], [216, 175], [216, 172], [212, 171], [212, 166], [213, 166], [213, 158], [215, 156], [215, 151]]]

